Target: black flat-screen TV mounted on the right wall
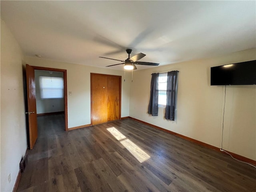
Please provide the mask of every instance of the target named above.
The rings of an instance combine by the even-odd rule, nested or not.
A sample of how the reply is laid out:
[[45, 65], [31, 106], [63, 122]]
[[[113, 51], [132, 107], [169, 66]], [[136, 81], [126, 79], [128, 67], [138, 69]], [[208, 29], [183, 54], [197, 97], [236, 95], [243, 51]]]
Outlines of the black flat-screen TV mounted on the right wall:
[[255, 85], [256, 60], [211, 67], [211, 85]]

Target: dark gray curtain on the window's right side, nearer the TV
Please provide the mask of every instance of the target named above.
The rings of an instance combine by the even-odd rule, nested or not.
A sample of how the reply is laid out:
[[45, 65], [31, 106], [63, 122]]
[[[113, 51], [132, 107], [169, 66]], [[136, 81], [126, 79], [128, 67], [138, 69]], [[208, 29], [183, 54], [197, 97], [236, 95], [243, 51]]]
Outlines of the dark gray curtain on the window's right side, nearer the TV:
[[164, 118], [175, 120], [176, 86], [178, 71], [167, 73], [166, 108]]

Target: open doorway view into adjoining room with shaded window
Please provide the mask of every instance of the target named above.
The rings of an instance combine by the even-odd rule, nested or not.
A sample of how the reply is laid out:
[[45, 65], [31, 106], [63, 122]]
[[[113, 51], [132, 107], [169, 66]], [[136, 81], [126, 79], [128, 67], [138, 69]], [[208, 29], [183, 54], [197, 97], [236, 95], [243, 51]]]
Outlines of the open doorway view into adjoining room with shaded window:
[[[58, 133], [64, 127], [64, 73], [34, 70], [38, 136]], [[55, 126], [50, 126], [50, 124]], [[51, 130], [47, 130], [51, 129]]]

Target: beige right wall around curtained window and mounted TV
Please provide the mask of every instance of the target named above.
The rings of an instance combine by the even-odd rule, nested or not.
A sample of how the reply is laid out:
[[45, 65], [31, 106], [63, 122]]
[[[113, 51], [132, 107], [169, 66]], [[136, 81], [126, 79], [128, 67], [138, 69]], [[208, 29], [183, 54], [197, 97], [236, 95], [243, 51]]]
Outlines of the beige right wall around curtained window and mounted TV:
[[[207, 144], [221, 147], [225, 86], [210, 86], [210, 67], [256, 59], [256, 50], [218, 58], [182, 62], [134, 71], [130, 116]], [[179, 70], [176, 120], [147, 114], [154, 72]], [[227, 86], [223, 149], [256, 160], [256, 85]]]

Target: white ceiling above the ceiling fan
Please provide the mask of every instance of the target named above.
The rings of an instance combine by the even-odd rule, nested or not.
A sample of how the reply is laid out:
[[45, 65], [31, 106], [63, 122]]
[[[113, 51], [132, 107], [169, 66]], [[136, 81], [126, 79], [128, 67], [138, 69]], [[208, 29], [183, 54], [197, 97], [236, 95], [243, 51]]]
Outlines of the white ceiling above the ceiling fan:
[[126, 48], [165, 65], [256, 47], [256, 1], [1, 0], [1, 19], [28, 56], [99, 67]]

